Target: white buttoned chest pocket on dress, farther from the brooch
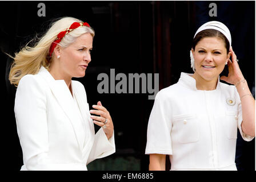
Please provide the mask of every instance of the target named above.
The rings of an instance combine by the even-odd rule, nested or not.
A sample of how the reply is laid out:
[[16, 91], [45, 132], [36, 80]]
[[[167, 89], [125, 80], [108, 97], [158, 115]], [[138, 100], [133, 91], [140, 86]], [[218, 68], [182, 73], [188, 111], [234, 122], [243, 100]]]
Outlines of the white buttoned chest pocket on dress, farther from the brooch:
[[179, 143], [193, 143], [199, 140], [197, 114], [182, 114], [173, 117]]

